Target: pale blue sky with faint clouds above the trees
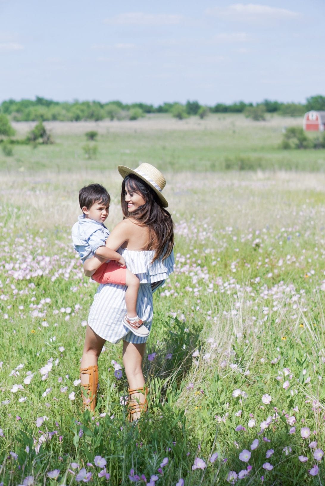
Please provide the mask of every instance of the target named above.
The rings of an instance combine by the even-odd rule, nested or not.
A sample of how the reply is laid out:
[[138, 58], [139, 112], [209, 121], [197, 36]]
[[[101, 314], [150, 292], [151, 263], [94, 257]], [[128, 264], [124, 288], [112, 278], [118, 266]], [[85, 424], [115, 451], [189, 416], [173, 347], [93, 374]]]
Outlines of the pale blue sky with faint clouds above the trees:
[[324, 18], [324, 0], [0, 0], [0, 102], [305, 102], [325, 95]]

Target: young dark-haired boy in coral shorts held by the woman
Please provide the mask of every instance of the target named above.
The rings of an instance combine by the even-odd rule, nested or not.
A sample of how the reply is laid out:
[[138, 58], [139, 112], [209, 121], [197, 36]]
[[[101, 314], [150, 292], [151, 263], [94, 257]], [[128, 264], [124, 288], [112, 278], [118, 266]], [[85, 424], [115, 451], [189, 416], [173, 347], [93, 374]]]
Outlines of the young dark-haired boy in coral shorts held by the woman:
[[122, 255], [106, 246], [109, 231], [104, 221], [108, 217], [109, 203], [110, 196], [101, 184], [90, 184], [80, 189], [79, 204], [83, 214], [78, 216], [78, 222], [72, 227], [73, 247], [82, 262], [94, 255], [110, 260], [103, 263], [92, 278], [98, 283], [126, 285], [126, 317], [123, 324], [136, 336], [147, 336], [149, 331], [143, 326], [136, 311], [139, 278], [127, 270]]

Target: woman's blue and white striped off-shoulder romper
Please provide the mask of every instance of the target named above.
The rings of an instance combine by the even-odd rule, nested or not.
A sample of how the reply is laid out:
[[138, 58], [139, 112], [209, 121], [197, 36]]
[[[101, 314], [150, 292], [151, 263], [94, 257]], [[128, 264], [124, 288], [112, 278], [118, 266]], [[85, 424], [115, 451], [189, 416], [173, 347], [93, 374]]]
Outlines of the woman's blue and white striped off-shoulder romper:
[[[174, 270], [174, 254], [165, 260], [158, 259], [151, 263], [155, 252], [134, 251], [119, 248], [117, 250], [126, 260], [127, 268], [140, 280], [137, 301], [138, 316], [145, 320], [145, 326], [150, 330], [153, 319], [153, 304], [151, 283], [167, 278]], [[118, 343], [121, 339], [129, 343], [145, 343], [146, 337], [138, 337], [124, 327], [122, 321], [126, 315], [126, 287], [122, 285], [101, 284], [90, 307], [88, 324], [101, 338], [110, 343]]]

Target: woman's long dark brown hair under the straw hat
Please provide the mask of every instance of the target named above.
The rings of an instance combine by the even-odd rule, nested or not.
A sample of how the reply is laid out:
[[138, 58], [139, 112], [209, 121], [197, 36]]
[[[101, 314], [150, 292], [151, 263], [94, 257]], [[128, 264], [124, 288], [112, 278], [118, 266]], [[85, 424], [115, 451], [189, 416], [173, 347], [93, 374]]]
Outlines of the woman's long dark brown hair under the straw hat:
[[[127, 210], [125, 188], [141, 194], [145, 201], [132, 214]], [[137, 175], [127, 175], [122, 182], [121, 207], [125, 218], [135, 219], [139, 225], [149, 228], [150, 240], [154, 243], [150, 249], [156, 250], [152, 261], [160, 257], [162, 260], [167, 258], [174, 246], [174, 225], [170, 213], [162, 207], [155, 191]]]

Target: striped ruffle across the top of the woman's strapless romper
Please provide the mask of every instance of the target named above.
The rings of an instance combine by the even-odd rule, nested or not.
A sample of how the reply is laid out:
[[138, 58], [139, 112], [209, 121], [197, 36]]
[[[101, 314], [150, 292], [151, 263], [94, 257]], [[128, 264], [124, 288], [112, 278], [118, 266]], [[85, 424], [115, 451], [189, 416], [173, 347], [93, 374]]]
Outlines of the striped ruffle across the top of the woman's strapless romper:
[[154, 283], [159, 280], [165, 280], [174, 271], [174, 253], [172, 252], [165, 260], [155, 260], [154, 250], [128, 250], [119, 248], [120, 253], [126, 261], [126, 267], [134, 273], [140, 280], [140, 283]]

